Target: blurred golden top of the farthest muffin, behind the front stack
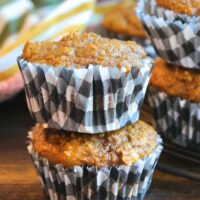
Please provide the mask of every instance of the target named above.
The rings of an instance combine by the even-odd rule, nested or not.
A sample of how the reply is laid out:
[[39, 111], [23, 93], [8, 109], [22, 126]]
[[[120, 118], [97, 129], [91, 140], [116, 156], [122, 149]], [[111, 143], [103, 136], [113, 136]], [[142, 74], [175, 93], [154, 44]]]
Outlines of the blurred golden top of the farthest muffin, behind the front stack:
[[106, 14], [102, 25], [111, 32], [127, 36], [146, 38], [146, 33], [136, 14], [134, 8], [137, 3], [132, 1], [129, 4], [119, 3], [115, 9]]

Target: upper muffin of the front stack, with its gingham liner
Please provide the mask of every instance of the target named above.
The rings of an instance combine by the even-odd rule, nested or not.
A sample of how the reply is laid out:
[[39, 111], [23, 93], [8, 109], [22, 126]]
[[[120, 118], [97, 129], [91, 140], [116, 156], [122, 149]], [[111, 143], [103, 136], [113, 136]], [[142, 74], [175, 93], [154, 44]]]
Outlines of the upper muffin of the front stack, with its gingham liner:
[[28, 42], [18, 63], [33, 118], [83, 133], [136, 122], [153, 64], [135, 42], [94, 33]]

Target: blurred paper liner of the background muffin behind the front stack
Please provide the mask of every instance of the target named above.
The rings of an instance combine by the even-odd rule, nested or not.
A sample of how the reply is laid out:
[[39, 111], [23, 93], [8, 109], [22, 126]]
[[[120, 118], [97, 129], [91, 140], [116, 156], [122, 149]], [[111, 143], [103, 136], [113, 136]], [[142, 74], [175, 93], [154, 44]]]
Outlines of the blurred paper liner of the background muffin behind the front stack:
[[114, 33], [111, 31], [105, 31], [104, 35], [108, 38], [116, 38], [118, 40], [132, 40], [135, 41], [137, 44], [141, 45], [145, 52], [147, 53], [148, 56], [150, 56], [151, 58], [156, 58], [157, 54], [156, 51], [154, 49], [154, 47], [151, 44], [151, 40], [148, 38], [139, 38], [136, 36], [128, 36], [128, 35], [124, 35], [124, 34], [119, 34], [119, 33]]

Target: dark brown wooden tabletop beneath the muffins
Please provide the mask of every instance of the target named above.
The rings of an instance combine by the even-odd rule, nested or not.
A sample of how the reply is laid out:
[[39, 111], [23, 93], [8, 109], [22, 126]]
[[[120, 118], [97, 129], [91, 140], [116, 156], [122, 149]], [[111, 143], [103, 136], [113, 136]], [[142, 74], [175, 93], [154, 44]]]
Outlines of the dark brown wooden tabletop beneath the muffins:
[[[24, 93], [0, 104], [0, 200], [44, 200], [39, 179], [26, 150], [27, 131], [34, 125]], [[159, 163], [198, 166], [165, 153]], [[200, 200], [200, 182], [156, 169], [146, 200]]]

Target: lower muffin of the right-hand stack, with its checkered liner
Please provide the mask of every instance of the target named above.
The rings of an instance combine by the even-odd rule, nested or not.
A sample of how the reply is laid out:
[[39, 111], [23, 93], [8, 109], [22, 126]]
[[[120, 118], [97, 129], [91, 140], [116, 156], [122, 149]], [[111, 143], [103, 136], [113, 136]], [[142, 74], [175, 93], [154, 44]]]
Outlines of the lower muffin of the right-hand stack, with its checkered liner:
[[148, 93], [156, 130], [168, 141], [200, 150], [200, 71], [157, 59]]

